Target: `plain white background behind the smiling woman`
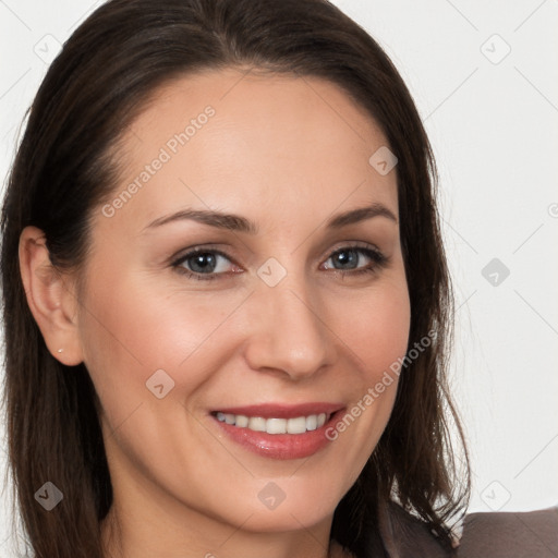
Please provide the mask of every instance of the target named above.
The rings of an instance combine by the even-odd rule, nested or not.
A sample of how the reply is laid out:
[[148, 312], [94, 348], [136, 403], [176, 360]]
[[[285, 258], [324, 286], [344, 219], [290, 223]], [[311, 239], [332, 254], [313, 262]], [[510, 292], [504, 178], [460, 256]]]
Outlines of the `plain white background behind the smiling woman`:
[[[556, 506], [558, 1], [333, 3], [386, 49], [437, 157], [459, 308], [452, 386], [473, 465], [470, 510]], [[2, 179], [49, 57], [98, 4], [0, 0]], [[504, 280], [496, 271], [497, 286], [482, 275], [493, 258], [510, 271]]]

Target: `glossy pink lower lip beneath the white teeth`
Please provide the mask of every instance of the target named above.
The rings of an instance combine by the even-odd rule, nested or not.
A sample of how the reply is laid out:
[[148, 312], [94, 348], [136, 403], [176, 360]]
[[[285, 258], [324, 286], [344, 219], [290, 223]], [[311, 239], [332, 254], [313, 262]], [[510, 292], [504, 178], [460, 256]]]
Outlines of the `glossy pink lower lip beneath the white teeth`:
[[335, 424], [339, 412], [331, 414], [329, 421], [319, 428], [304, 434], [267, 434], [227, 424], [218, 421], [216, 416], [214, 420], [235, 442], [258, 456], [270, 459], [302, 459], [313, 456], [331, 444], [331, 440], [326, 437], [326, 430]]

